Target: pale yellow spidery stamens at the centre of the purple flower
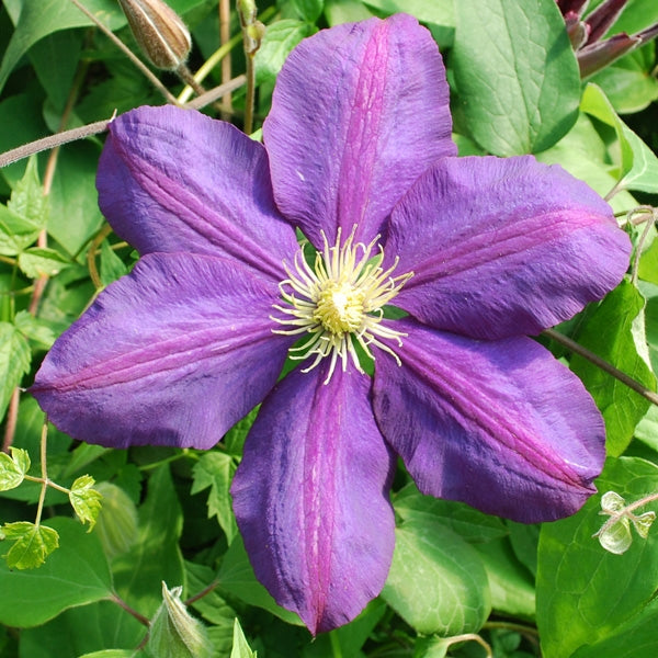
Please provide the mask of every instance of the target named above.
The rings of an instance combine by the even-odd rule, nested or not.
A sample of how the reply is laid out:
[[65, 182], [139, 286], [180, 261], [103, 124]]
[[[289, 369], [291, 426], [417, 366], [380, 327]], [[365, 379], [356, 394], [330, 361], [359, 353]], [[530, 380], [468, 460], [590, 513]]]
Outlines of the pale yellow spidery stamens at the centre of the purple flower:
[[399, 347], [406, 334], [388, 326], [383, 307], [413, 273], [393, 276], [397, 258], [388, 270], [383, 270], [384, 251], [381, 247], [375, 250], [379, 236], [370, 245], [354, 243], [355, 231], [356, 226], [341, 245], [339, 228], [332, 247], [322, 232], [324, 248], [316, 252], [313, 266], [306, 260], [304, 246], [295, 254], [294, 269], [284, 262], [288, 277], [279, 284], [284, 304], [274, 305], [284, 317], [272, 316], [272, 319], [285, 327], [273, 330], [275, 333], [309, 334], [290, 351], [291, 359], [295, 360], [315, 355], [303, 372], [313, 370], [326, 356], [331, 360], [325, 384], [330, 381], [339, 359], [343, 371], [351, 360], [356, 370], [363, 372], [356, 345], [372, 360], [371, 345], [376, 345], [400, 363], [384, 341], [393, 340]]

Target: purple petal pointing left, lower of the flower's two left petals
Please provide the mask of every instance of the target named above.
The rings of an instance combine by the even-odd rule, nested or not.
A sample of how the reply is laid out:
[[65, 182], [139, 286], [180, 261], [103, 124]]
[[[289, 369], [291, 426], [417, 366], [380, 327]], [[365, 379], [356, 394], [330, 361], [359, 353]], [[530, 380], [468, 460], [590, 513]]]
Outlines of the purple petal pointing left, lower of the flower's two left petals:
[[207, 449], [276, 382], [276, 286], [235, 262], [158, 253], [99, 295], [31, 392], [60, 430], [112, 447]]

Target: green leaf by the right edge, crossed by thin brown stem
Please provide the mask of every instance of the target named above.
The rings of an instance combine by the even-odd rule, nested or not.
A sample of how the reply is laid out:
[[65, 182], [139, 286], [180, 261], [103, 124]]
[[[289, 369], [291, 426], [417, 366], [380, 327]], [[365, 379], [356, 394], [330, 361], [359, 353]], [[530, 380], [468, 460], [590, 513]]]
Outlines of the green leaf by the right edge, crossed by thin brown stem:
[[[648, 354], [645, 354], [646, 342], [642, 326], [644, 305], [637, 288], [623, 281], [588, 316], [575, 340], [647, 388], [654, 389], [656, 378], [647, 365]], [[608, 454], [621, 455], [650, 402], [582, 356], [575, 354], [570, 366], [582, 379], [603, 415]]]

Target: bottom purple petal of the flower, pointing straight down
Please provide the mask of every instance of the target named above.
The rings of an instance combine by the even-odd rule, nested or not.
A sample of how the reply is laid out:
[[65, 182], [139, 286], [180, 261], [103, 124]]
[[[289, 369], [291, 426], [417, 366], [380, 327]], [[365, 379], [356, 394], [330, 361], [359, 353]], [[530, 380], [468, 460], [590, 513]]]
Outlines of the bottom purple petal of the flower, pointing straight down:
[[344, 624], [388, 574], [395, 461], [375, 424], [370, 378], [294, 371], [265, 399], [232, 484], [258, 579], [315, 635]]

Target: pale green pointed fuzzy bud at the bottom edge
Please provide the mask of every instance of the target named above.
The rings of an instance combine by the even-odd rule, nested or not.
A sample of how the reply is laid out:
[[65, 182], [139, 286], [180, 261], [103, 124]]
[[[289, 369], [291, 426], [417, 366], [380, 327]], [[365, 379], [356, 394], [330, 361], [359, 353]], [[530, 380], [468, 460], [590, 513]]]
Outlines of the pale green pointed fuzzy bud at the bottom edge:
[[209, 658], [213, 653], [204, 626], [181, 601], [182, 591], [162, 583], [162, 604], [151, 620], [147, 644], [154, 658]]

